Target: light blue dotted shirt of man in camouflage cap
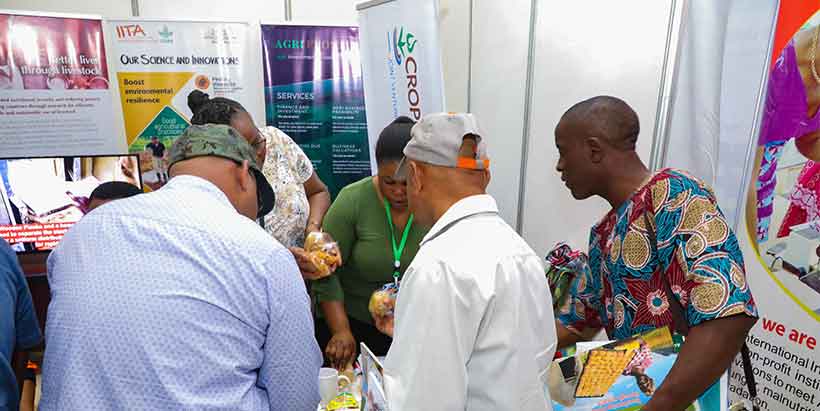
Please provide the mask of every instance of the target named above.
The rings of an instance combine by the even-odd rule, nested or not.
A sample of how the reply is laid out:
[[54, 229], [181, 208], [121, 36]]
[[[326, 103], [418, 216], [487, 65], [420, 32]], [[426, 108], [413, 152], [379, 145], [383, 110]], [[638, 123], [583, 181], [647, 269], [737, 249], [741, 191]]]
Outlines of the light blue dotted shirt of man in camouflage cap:
[[292, 255], [179, 176], [51, 254], [42, 410], [315, 410], [322, 358]]

